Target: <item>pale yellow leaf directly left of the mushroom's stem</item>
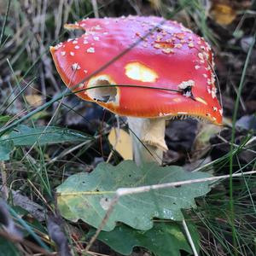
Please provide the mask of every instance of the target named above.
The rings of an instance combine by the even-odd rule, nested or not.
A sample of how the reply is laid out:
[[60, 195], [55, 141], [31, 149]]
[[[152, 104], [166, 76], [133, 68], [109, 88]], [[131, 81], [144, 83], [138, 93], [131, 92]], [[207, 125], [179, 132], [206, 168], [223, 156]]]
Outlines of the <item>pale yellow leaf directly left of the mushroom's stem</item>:
[[108, 141], [124, 160], [132, 160], [131, 137], [126, 131], [112, 128], [108, 135]]

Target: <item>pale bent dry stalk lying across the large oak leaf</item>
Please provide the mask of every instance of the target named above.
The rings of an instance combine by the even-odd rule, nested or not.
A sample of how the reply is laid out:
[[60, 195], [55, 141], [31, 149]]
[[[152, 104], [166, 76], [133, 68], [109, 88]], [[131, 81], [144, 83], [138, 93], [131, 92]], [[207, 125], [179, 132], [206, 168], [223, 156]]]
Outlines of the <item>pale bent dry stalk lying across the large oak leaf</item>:
[[[255, 173], [256, 173], [256, 171], [235, 173], [235, 174], [232, 175], [232, 177], [241, 177], [241, 176], [245, 176], [245, 175], [249, 175], [249, 174], [255, 174]], [[105, 224], [108, 222], [108, 218], [110, 217], [110, 214], [113, 212], [114, 206], [119, 201], [119, 197], [121, 197], [123, 195], [143, 193], [143, 192], [147, 192], [151, 189], [166, 189], [166, 188], [171, 188], [171, 187], [184, 185], [184, 184], [202, 183], [202, 182], [214, 181], [214, 180], [228, 178], [228, 177], [230, 177], [230, 175], [222, 175], [222, 176], [217, 176], [217, 177], [197, 178], [197, 179], [194, 179], [194, 180], [186, 180], [186, 181], [175, 182], [175, 183], [163, 183], [163, 184], [156, 184], [156, 185], [151, 185], [151, 186], [142, 186], [142, 187], [131, 188], [131, 189], [129, 189], [129, 188], [117, 189], [116, 192], [115, 192], [115, 196], [113, 197], [113, 200], [111, 201], [111, 203], [108, 207], [108, 211], [106, 212], [104, 218], [102, 219], [101, 224], [99, 225], [98, 229], [96, 230], [95, 235], [90, 238], [90, 241], [88, 242], [87, 246], [85, 247], [85, 250], [84, 250], [85, 254], [88, 253], [88, 251], [90, 250], [90, 247], [96, 241], [96, 238], [99, 236], [99, 234], [101, 233]], [[77, 194], [79, 194], [79, 193], [77, 193]], [[81, 194], [86, 194], [86, 192], [81, 193]], [[63, 196], [63, 195], [70, 195], [70, 193], [61, 193], [61, 196]], [[195, 255], [198, 256], [198, 254], [195, 254]]]

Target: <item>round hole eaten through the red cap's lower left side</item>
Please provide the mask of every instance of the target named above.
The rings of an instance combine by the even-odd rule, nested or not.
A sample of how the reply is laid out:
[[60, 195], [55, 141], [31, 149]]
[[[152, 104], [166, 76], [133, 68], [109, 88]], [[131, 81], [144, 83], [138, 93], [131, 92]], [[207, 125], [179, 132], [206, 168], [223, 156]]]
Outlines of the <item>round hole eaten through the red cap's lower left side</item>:
[[90, 79], [87, 88], [87, 95], [96, 102], [118, 102], [118, 90], [108, 78]]

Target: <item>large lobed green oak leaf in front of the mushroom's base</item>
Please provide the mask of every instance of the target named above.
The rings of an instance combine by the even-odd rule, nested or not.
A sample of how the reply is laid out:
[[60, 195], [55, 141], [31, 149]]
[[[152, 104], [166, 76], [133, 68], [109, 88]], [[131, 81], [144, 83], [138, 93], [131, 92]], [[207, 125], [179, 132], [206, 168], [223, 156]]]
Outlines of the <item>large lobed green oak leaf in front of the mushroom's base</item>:
[[[123, 161], [119, 166], [101, 163], [94, 172], [83, 172], [67, 178], [67, 181], [57, 188], [58, 206], [63, 217], [73, 221], [81, 218], [97, 228], [116, 189], [202, 177], [210, 175], [203, 172], [186, 172], [179, 166], [160, 167], [153, 163], [137, 167], [130, 160]], [[177, 188], [122, 196], [103, 230], [113, 230], [118, 221], [137, 230], [149, 230], [153, 227], [154, 217], [182, 220], [181, 209], [196, 207], [194, 198], [207, 194], [209, 190], [208, 183], [190, 183]]]

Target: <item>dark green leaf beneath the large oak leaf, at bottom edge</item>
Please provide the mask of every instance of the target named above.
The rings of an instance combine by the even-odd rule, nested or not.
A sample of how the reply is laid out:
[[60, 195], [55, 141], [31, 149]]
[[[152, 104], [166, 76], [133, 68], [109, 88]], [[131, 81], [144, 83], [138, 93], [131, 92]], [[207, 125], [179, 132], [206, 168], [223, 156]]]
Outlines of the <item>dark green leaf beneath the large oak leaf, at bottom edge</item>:
[[[195, 226], [189, 224], [189, 231], [199, 252], [200, 236]], [[97, 239], [123, 255], [130, 255], [133, 247], [147, 248], [156, 256], [179, 256], [180, 250], [192, 253], [181, 225], [174, 222], [155, 223], [148, 231], [133, 230], [122, 224], [113, 231], [101, 232]]]

